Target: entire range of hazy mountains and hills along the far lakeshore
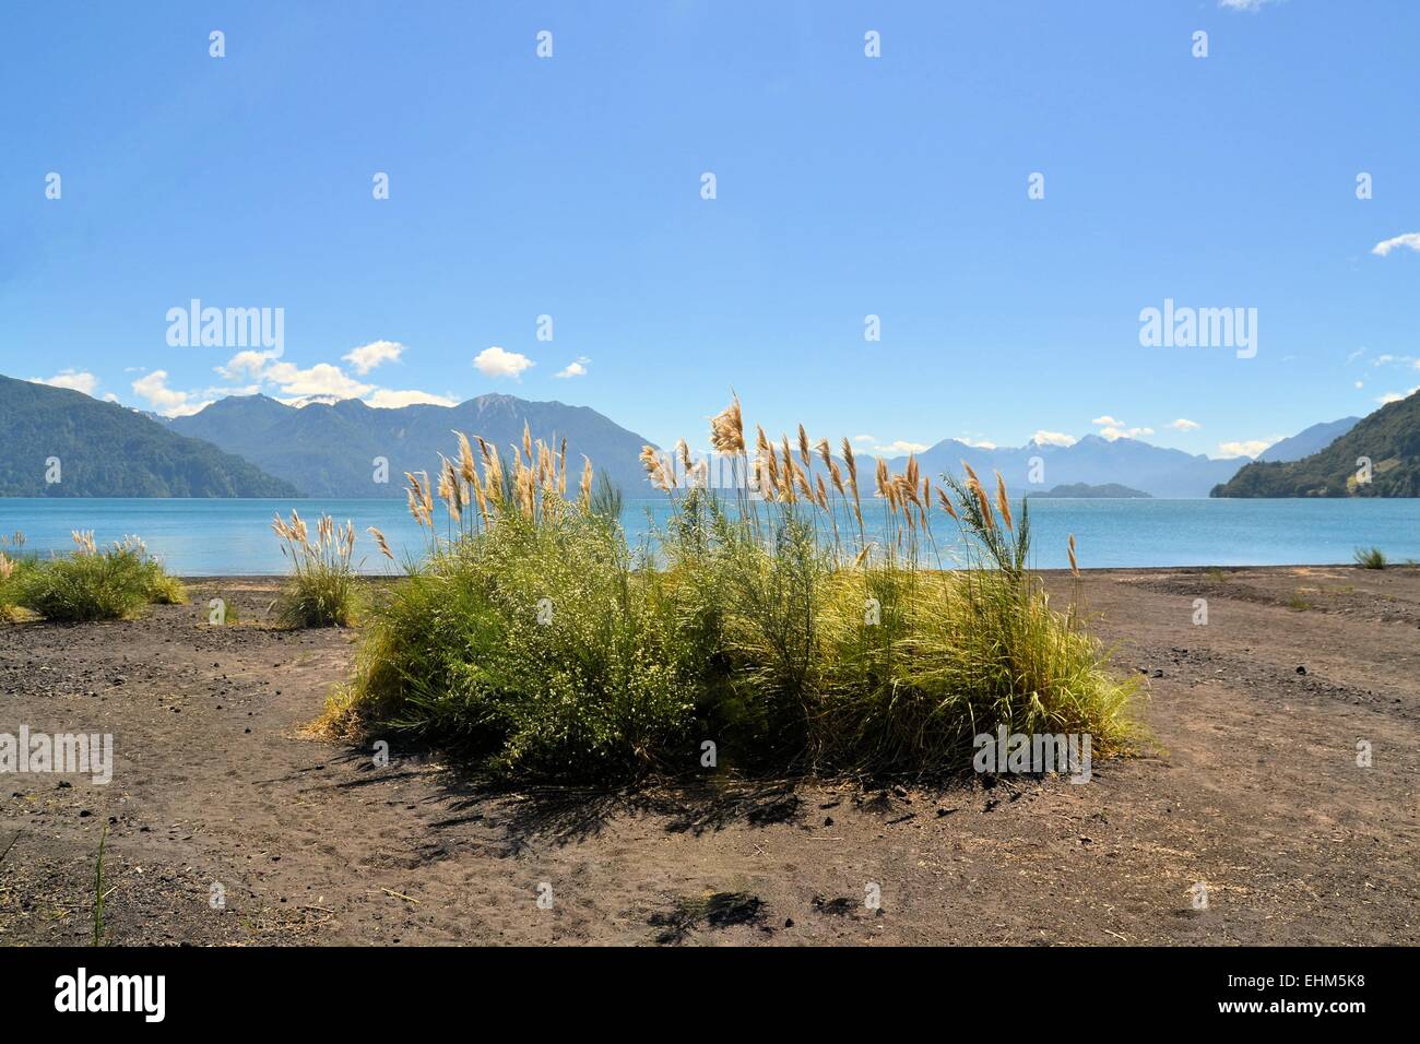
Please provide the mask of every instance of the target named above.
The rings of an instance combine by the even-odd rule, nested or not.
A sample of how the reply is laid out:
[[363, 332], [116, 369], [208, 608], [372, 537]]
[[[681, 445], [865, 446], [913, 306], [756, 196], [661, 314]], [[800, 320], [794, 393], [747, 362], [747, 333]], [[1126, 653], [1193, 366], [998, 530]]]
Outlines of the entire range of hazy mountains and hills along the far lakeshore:
[[[453, 432], [481, 435], [507, 455], [524, 423], [552, 445], [567, 437], [571, 472], [585, 453], [628, 496], [649, 493], [638, 460], [648, 440], [586, 406], [481, 395], [457, 406], [376, 409], [358, 399], [287, 405], [248, 395], [166, 419], [0, 378], [0, 496], [402, 497], [405, 472], [432, 473], [440, 453], [456, 453]], [[1369, 456], [1373, 482], [1360, 494], [1420, 496], [1417, 439], [1411, 396], [1363, 420], [1312, 425], [1257, 463], [1086, 435], [1071, 446], [991, 449], [947, 439], [919, 453], [917, 464], [923, 474], [958, 474], [966, 460], [983, 476], [1000, 472], [1012, 494], [1348, 496], [1356, 457]], [[57, 484], [44, 482], [51, 456], [61, 459]], [[385, 483], [376, 482], [379, 459], [388, 460]], [[906, 457], [889, 464], [902, 470]]]

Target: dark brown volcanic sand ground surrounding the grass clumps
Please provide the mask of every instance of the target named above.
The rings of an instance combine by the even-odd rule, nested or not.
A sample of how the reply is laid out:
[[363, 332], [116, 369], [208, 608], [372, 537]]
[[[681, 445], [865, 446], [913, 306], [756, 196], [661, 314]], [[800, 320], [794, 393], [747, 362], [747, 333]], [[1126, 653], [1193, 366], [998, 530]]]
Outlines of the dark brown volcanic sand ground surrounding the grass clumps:
[[[0, 776], [0, 943], [88, 942], [105, 824], [111, 943], [1420, 942], [1420, 570], [1118, 570], [1078, 592], [1118, 669], [1147, 669], [1166, 753], [1086, 785], [902, 793], [497, 794], [398, 743], [376, 768], [300, 734], [355, 635], [268, 629], [270, 580], [0, 625], [0, 732], [116, 747], [106, 787]], [[203, 624], [219, 594], [239, 626]]]

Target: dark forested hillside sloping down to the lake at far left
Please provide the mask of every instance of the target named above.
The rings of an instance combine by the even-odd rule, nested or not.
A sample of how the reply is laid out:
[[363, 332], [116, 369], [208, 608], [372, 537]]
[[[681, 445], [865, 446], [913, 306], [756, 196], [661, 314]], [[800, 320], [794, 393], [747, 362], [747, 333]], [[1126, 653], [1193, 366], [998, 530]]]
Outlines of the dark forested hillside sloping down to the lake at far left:
[[[58, 479], [58, 482], [50, 482]], [[290, 483], [115, 402], [0, 376], [0, 496], [290, 497]]]

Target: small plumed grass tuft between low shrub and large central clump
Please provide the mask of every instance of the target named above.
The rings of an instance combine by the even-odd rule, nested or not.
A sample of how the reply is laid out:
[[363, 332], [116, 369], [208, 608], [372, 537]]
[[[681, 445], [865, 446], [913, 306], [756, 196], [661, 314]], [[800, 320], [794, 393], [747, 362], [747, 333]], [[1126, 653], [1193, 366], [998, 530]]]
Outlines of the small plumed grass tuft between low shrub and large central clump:
[[344, 527], [322, 514], [310, 538], [305, 521], [291, 511], [291, 521], [277, 516], [271, 528], [281, 538], [281, 554], [294, 572], [281, 592], [278, 619], [288, 628], [349, 626], [355, 622], [355, 527]]

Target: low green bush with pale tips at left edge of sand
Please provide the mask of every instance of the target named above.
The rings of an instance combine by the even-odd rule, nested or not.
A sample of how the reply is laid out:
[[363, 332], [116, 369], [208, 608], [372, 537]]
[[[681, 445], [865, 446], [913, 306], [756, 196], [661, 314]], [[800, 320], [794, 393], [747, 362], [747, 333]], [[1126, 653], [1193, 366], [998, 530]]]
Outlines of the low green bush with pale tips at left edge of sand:
[[132, 616], [143, 605], [186, 601], [182, 584], [169, 577], [136, 537], [99, 550], [91, 533], [75, 533], [67, 557], [36, 560], [16, 572], [14, 601], [45, 619], [88, 622]]

